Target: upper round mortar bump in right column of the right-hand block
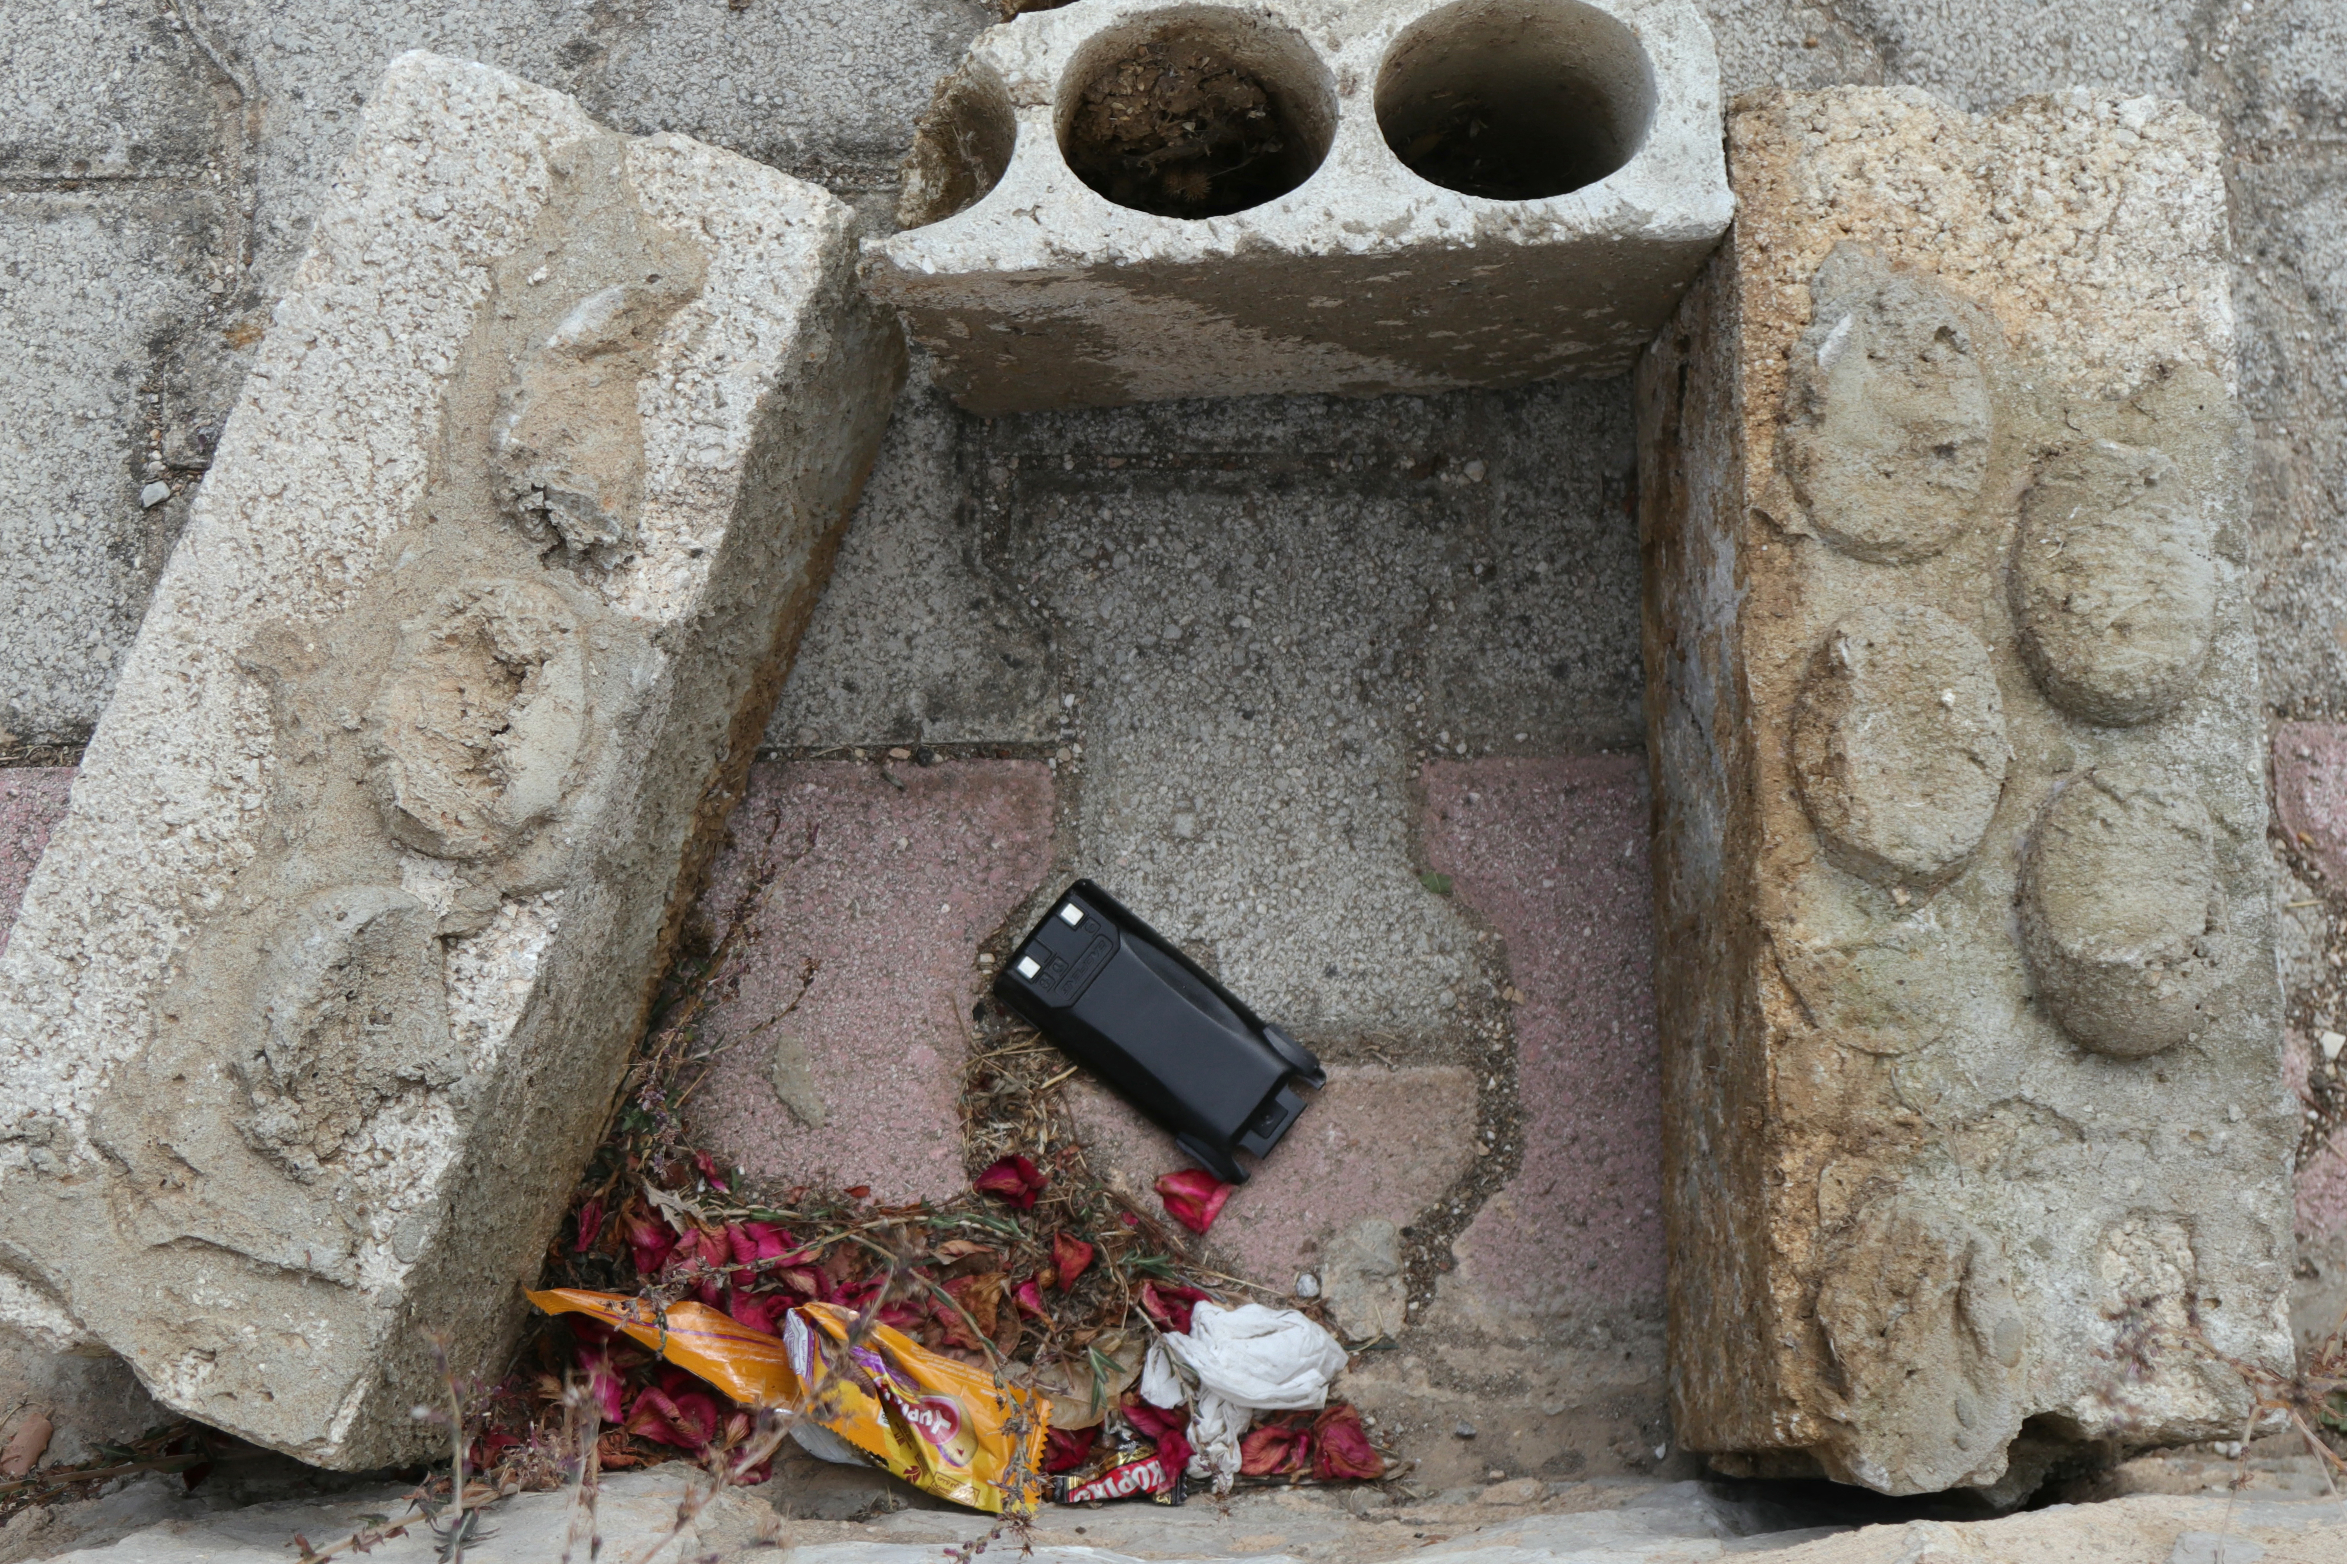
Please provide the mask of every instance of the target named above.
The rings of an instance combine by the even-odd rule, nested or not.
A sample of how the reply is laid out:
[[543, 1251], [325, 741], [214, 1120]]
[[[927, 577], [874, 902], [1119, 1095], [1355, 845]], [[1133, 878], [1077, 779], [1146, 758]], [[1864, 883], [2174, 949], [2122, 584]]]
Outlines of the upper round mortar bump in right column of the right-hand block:
[[2173, 708], [2216, 635], [2209, 523], [2159, 450], [2068, 450], [2021, 502], [2021, 654], [2063, 710], [2124, 727]]

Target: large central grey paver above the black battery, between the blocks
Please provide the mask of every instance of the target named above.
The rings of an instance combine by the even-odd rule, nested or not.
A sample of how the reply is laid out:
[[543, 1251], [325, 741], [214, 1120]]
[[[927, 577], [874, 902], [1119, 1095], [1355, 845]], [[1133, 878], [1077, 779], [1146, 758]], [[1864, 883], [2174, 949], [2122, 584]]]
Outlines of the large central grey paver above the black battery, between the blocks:
[[1073, 868], [1307, 1041], [1455, 1034], [1488, 975], [1418, 879], [1411, 769], [1636, 734], [1615, 408], [1551, 385], [997, 420], [972, 546], [1051, 635]]

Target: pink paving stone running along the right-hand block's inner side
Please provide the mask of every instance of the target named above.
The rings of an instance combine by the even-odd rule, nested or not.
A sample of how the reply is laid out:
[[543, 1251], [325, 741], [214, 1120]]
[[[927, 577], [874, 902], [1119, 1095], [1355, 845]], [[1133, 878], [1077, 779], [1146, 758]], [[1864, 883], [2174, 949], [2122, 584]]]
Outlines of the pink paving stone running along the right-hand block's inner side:
[[1662, 1299], [1645, 762], [1432, 762], [1427, 863], [1507, 940], [1523, 1165], [1453, 1245], [1530, 1313]]

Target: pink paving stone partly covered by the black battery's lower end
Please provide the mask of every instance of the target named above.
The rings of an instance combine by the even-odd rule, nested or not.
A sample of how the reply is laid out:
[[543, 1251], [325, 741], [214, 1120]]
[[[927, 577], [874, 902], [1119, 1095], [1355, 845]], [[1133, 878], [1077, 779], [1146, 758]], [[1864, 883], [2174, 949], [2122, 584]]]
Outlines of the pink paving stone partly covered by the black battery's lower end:
[[[1068, 1109], [1096, 1172], [1145, 1210], [1152, 1184], [1190, 1158], [1174, 1137], [1089, 1076]], [[1331, 1065], [1305, 1109], [1206, 1233], [1239, 1276], [1289, 1285], [1354, 1222], [1408, 1226], [1474, 1163], [1474, 1076], [1457, 1065]]]

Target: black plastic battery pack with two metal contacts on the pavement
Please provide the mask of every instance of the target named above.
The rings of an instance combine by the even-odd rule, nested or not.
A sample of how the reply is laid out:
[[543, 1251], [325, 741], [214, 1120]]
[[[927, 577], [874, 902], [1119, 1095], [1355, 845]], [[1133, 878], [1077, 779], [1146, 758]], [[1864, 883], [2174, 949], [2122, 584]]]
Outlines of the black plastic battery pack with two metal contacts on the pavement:
[[1174, 1133], [1199, 1168], [1244, 1184], [1328, 1072], [1239, 1004], [1124, 903], [1077, 879], [1012, 952], [995, 999]]

